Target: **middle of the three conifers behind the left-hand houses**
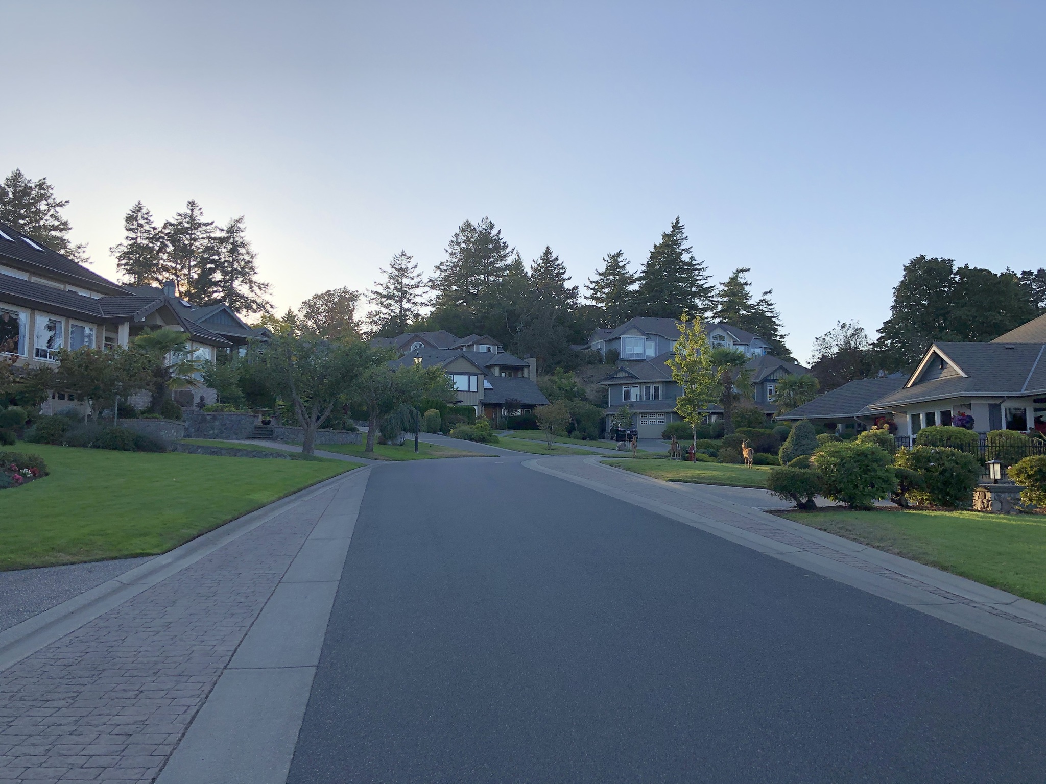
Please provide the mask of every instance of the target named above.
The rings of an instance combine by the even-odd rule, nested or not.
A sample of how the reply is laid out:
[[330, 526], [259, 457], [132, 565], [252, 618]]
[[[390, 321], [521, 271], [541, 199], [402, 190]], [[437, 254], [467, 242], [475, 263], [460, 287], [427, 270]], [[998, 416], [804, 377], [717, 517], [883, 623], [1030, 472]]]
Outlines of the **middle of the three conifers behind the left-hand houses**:
[[164, 262], [161, 276], [175, 282], [179, 297], [197, 304], [207, 299], [207, 290], [213, 285], [208, 280], [211, 272], [205, 268], [218, 264], [220, 253], [213, 221], [203, 220], [203, 209], [192, 199], [185, 203], [185, 211], [177, 212], [160, 229], [164, 241]]

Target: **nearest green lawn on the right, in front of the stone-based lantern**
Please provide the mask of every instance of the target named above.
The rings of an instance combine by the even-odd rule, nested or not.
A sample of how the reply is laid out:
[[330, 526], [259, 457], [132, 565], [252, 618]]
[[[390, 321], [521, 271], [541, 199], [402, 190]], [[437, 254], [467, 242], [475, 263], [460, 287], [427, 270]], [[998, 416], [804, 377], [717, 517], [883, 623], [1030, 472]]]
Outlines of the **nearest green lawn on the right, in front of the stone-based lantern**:
[[827, 509], [780, 514], [1046, 603], [1046, 516], [919, 509]]

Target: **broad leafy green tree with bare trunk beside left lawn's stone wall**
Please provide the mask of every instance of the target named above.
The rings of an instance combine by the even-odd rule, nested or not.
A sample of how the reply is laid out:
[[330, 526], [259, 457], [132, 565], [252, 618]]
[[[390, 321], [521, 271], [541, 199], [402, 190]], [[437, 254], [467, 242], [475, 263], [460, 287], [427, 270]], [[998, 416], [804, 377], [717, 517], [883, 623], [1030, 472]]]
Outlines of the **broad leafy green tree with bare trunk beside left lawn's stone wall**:
[[316, 431], [334, 407], [347, 403], [359, 377], [386, 360], [384, 352], [358, 340], [326, 340], [290, 329], [275, 337], [262, 362], [301, 426], [301, 454], [313, 454]]

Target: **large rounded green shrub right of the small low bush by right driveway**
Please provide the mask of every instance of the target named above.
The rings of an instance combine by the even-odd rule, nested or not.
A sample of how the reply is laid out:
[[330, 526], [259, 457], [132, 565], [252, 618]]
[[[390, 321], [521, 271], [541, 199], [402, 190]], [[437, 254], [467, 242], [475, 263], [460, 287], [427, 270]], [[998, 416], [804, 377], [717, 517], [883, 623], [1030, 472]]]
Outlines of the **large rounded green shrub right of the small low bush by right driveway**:
[[824, 482], [824, 494], [851, 509], [870, 509], [897, 487], [890, 456], [869, 443], [827, 443], [811, 458]]

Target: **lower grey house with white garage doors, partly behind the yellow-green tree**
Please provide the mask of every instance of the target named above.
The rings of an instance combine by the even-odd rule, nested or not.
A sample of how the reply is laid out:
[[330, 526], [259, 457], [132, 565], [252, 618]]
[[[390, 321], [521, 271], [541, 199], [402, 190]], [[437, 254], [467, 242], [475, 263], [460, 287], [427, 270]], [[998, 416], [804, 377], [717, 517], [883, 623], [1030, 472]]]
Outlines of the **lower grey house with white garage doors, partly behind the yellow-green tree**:
[[[607, 387], [608, 405], [604, 414], [610, 429], [614, 415], [624, 406], [634, 412], [639, 438], [660, 438], [664, 425], [681, 421], [676, 413], [676, 398], [680, 387], [672, 379], [672, 370], [666, 364], [673, 358], [666, 351], [653, 360], [639, 363], [622, 362], [600, 384]], [[774, 396], [777, 383], [789, 375], [802, 375], [806, 368], [787, 362], [777, 356], [759, 354], [748, 361], [746, 367], [752, 373], [753, 405], [769, 419], [775, 409]], [[708, 418], [720, 419], [723, 409], [709, 406]]]

